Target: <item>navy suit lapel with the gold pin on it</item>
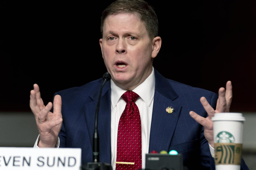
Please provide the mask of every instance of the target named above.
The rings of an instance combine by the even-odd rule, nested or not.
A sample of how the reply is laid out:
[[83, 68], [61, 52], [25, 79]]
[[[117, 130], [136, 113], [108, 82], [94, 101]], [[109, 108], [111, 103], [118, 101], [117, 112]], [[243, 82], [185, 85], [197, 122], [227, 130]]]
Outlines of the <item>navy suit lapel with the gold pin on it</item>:
[[[152, 150], [168, 151], [173, 133], [181, 111], [181, 105], [174, 100], [178, 98], [171, 84], [155, 70], [155, 94], [150, 129], [149, 153]], [[166, 108], [173, 107], [173, 113]]]

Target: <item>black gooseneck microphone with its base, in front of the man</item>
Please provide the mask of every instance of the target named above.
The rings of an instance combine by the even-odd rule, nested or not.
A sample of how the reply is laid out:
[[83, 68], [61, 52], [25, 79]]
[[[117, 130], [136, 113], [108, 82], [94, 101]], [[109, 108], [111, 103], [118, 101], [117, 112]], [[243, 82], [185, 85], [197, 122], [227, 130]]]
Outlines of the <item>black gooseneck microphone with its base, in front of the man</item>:
[[86, 170], [112, 170], [112, 167], [110, 164], [107, 163], [100, 163], [99, 162], [99, 134], [98, 134], [98, 114], [99, 114], [99, 104], [101, 100], [101, 93], [102, 93], [102, 88], [104, 84], [111, 79], [111, 75], [109, 73], [104, 73], [103, 74], [103, 83], [101, 85], [101, 89], [99, 92], [99, 99], [97, 103], [97, 107], [95, 110], [95, 127], [94, 127], [94, 134], [93, 134], [93, 162], [92, 163], [87, 163], [85, 166], [82, 166], [82, 169]]

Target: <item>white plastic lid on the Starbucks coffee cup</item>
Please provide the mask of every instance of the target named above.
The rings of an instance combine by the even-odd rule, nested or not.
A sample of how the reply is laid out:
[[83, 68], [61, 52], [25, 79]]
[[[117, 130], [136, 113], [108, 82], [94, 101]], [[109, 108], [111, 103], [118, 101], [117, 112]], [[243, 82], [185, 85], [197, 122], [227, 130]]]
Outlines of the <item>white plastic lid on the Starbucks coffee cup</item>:
[[211, 118], [212, 121], [245, 121], [242, 113], [215, 113], [214, 117]]

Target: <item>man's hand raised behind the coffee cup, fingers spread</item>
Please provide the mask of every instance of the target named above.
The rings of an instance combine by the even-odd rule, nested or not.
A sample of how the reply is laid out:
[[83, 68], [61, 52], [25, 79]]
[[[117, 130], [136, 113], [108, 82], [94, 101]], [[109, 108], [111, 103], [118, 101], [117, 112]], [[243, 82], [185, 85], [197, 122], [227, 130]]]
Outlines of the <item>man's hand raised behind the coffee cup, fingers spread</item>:
[[207, 102], [205, 97], [201, 97], [201, 104], [203, 105], [205, 111], [208, 113], [208, 117], [199, 116], [197, 113], [190, 111], [189, 114], [195, 121], [201, 124], [204, 128], [204, 135], [209, 144], [214, 147], [214, 136], [213, 136], [213, 121], [211, 117], [215, 113], [229, 112], [231, 101], [232, 101], [232, 84], [228, 81], [225, 88], [219, 88], [219, 98], [217, 100], [216, 110], [214, 110], [211, 105]]

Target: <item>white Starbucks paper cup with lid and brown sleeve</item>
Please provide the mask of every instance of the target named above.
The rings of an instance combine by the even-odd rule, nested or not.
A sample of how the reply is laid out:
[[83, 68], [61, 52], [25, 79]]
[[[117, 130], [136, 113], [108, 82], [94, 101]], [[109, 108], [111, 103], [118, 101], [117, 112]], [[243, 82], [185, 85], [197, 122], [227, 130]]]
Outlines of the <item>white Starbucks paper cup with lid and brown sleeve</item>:
[[242, 113], [215, 113], [213, 121], [215, 169], [239, 170], [242, 154]]

